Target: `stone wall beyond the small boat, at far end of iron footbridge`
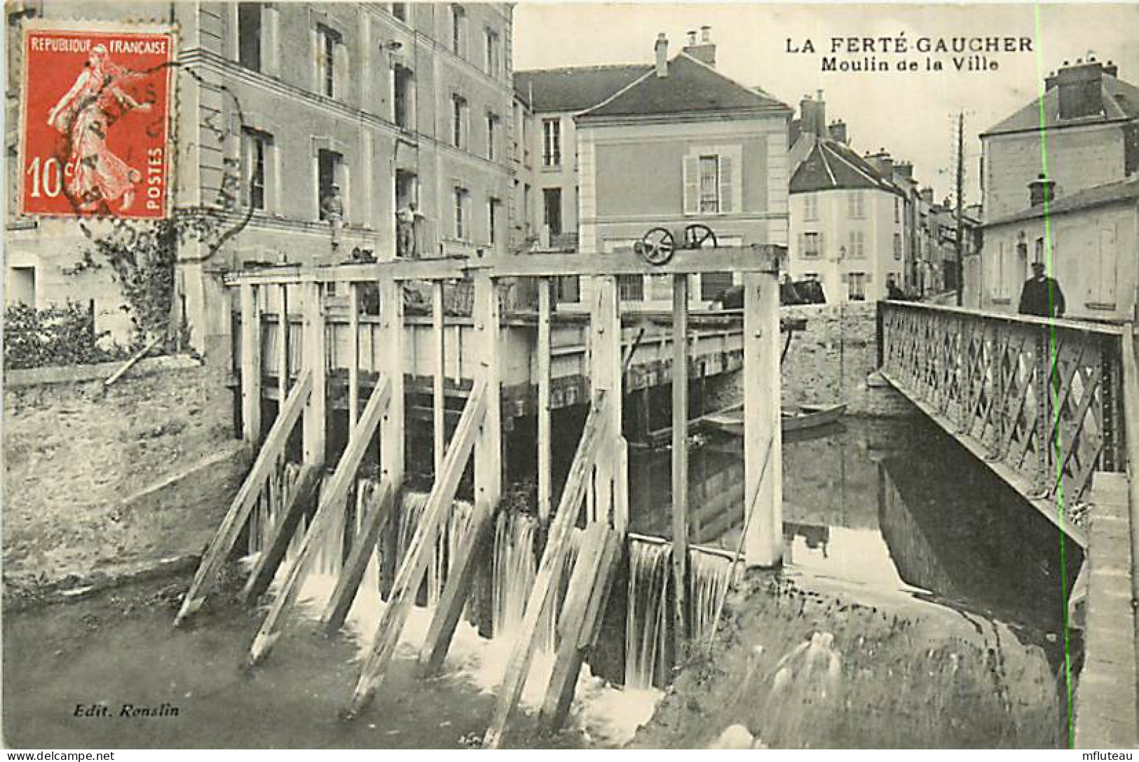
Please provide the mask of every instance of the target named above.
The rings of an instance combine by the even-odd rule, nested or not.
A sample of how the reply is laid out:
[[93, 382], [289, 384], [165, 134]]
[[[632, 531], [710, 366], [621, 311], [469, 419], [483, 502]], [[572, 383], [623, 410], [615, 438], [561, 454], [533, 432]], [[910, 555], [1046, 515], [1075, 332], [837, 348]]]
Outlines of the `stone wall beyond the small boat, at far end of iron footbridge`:
[[805, 318], [782, 363], [784, 407], [846, 402], [851, 416], [908, 416], [915, 408], [888, 386], [867, 384], [877, 370], [876, 305], [810, 304], [782, 308]]

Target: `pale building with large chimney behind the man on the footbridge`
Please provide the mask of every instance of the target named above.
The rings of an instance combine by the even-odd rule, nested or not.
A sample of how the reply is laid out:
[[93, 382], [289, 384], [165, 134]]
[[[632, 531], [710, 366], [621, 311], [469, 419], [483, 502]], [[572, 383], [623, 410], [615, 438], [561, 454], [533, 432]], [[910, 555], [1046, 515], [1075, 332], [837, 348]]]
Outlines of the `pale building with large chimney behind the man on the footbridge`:
[[1117, 75], [1111, 62], [1065, 62], [1041, 98], [981, 136], [984, 245], [966, 267], [967, 304], [1015, 312], [1044, 262], [1068, 316], [1132, 314], [1139, 88]]

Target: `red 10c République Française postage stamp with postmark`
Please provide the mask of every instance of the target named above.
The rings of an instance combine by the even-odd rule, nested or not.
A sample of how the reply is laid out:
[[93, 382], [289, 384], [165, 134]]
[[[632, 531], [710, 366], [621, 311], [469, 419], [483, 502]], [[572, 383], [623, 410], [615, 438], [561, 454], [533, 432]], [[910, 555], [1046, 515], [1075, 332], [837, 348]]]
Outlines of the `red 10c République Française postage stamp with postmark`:
[[173, 33], [25, 28], [19, 211], [163, 219]]

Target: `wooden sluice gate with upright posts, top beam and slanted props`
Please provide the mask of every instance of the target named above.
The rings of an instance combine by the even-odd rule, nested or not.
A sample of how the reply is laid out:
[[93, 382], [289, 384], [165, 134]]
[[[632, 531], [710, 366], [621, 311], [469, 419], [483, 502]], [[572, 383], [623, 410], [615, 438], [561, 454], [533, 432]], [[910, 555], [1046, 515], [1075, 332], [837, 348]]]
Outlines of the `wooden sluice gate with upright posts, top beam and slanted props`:
[[[485, 572], [480, 566], [485, 565], [489, 539], [494, 541], [498, 562], [498, 542], [506, 541], [503, 527], [509, 532], [517, 525], [509, 517], [506, 523], [501, 518], [505, 407], [516, 394], [505, 379], [510, 374], [517, 377], [510, 367], [517, 358], [507, 357], [513, 350], [510, 334], [505, 330], [501, 294], [505, 285], [532, 281], [536, 284], [538, 313], [527, 325], [536, 331], [536, 341], [525, 363], [530, 376], [536, 378], [533, 458], [538, 484], [532, 519], [536, 529], [524, 527], [522, 542], [538, 539], [540, 555], [530, 572], [532, 580], [527, 575], [525, 604], [514, 605], [514, 631], [501, 633], [513, 638], [514, 647], [484, 746], [500, 745], [534, 653], [549, 640], [551, 624], [556, 632], [549, 644], [555, 653], [554, 669], [539, 716], [543, 727], [559, 727], [582, 663], [597, 646], [607, 616], [612, 618], [611, 609], [644, 607], [644, 584], [634, 590], [637, 577], [630, 574], [630, 566], [653, 567], [652, 579], [658, 581], [652, 583], [648, 595], [656, 621], [663, 617], [679, 644], [715, 628], [737, 560], [749, 566], [773, 566], [780, 560], [779, 253], [773, 246], [682, 251], [657, 265], [631, 253], [417, 260], [270, 268], [232, 276], [229, 285], [240, 297], [237, 367], [241, 429], [257, 457], [203, 557], [175, 624], [203, 605], [252, 521], [262, 540], [243, 595], [252, 603], [271, 589], [273, 598], [249, 648], [248, 666], [270, 654], [316, 558], [333, 538], [343, 554], [335, 564], [335, 589], [321, 616], [326, 630], [335, 632], [344, 624], [358, 596], [383, 595], [386, 599], [345, 716], [363, 712], [383, 690], [401, 633], [428, 579], [437, 589], [419, 665], [425, 673], [439, 671], [468, 604], [485, 593], [485, 585], [476, 585], [476, 579]], [[719, 321], [718, 335], [698, 335], [691, 331], [689, 284], [702, 272], [715, 271], [740, 273], [744, 309], [735, 317], [713, 318]], [[623, 399], [630, 378], [649, 382], [644, 380], [644, 372], [630, 372], [644, 330], [634, 341], [630, 341], [628, 329], [623, 330], [617, 287], [617, 277], [623, 275], [664, 277], [672, 286], [667, 341], [655, 336], [642, 350], [650, 353], [650, 362], [663, 360], [657, 371], [672, 380], [673, 541], [664, 550], [652, 550], [659, 541], [633, 539], [629, 533], [629, 494], [636, 485], [629, 484]], [[567, 276], [589, 284], [584, 289], [588, 320], [574, 318], [585, 329], [585, 349], [575, 361], [587, 371], [576, 375], [588, 384], [589, 409], [568, 476], [556, 493], [551, 412], [558, 407], [558, 353], [551, 290], [555, 278]], [[470, 284], [469, 319], [452, 318], [444, 309], [445, 289], [456, 282]], [[411, 284], [426, 284], [431, 294], [429, 325], [412, 318], [418, 333], [407, 330], [404, 314]], [[346, 314], [338, 321], [329, 320], [327, 297], [334, 289], [346, 294]], [[377, 294], [378, 314], [362, 314], [364, 296], [371, 300]], [[297, 314], [300, 322], [295, 322]], [[449, 341], [449, 330], [460, 334], [458, 341]], [[744, 532], [734, 556], [689, 547], [687, 382], [694, 350], [706, 349], [707, 342], [719, 347], [711, 353], [726, 367], [738, 357], [737, 367], [744, 374], [745, 486], [738, 507]], [[462, 357], [454, 357], [457, 353]], [[671, 357], [662, 358], [665, 353]], [[347, 439], [342, 450], [328, 442], [330, 378], [336, 367], [346, 371], [347, 387]], [[674, 371], [681, 368], [686, 370]], [[366, 374], [371, 382], [368, 385], [363, 383]], [[272, 423], [263, 427], [267, 378], [277, 405]], [[415, 383], [418, 378], [426, 379], [424, 386], [431, 394], [434, 475], [423, 503], [409, 515], [401, 506], [408, 485], [405, 392], [409, 379]], [[462, 408], [448, 436], [448, 395], [456, 388], [464, 392], [458, 398]], [[557, 436], [564, 440], [565, 434]], [[290, 460], [296, 465], [287, 466]], [[472, 461], [473, 499], [457, 529], [453, 506]], [[281, 476], [286, 472], [289, 478]], [[441, 543], [445, 546], [442, 564]], [[377, 549], [384, 567], [382, 590], [362, 584]], [[505, 558], [507, 550], [501, 552]], [[705, 556], [716, 558], [719, 571], [704, 571], [708, 566]], [[694, 581], [694, 559], [698, 581]], [[667, 564], [666, 571], [662, 563]], [[625, 589], [618, 580], [626, 581]], [[502, 600], [498, 590], [494, 596], [498, 612]], [[658, 630], [645, 636], [653, 640], [654, 653], [656, 640], [663, 637]]]

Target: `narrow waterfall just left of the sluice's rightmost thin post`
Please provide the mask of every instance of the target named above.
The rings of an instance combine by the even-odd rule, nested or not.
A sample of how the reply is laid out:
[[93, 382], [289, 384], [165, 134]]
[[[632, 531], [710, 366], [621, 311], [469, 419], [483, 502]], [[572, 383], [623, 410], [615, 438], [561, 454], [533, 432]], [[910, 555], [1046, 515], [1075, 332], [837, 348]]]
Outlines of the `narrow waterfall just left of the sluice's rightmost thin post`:
[[629, 543], [629, 615], [625, 621], [625, 687], [652, 688], [664, 665], [672, 548]]

